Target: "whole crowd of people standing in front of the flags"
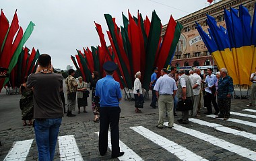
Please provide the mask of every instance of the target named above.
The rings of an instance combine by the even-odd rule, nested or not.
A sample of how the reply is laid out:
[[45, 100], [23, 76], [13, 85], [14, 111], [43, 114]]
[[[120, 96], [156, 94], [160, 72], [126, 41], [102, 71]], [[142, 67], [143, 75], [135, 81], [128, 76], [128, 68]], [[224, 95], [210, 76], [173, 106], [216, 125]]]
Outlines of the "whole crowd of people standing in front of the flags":
[[[67, 87], [67, 111], [65, 108], [65, 96], [63, 92], [63, 77], [59, 73], [53, 72], [50, 55], [40, 55], [38, 57], [38, 68], [36, 73], [26, 77], [26, 82], [20, 86], [20, 109], [22, 110], [23, 125], [33, 125], [36, 143], [38, 147], [39, 160], [53, 160], [55, 146], [62, 117], [67, 113], [67, 117], [75, 117], [72, 113], [75, 110], [77, 100], [78, 114], [88, 112], [88, 97], [91, 91], [92, 112], [94, 123], [100, 123], [99, 152], [104, 156], [108, 146], [108, 129], [110, 127], [110, 137], [112, 144], [112, 158], [123, 156], [119, 147], [119, 118], [121, 108], [119, 102], [122, 94], [119, 82], [113, 78], [117, 65], [113, 61], [107, 61], [103, 65], [106, 77], [99, 79], [98, 71], [92, 73], [90, 90], [88, 83], [78, 77], [76, 81], [75, 71], [69, 69], [68, 77], [65, 79]], [[256, 71], [256, 68], [255, 68]], [[3, 77], [6, 73], [1, 72]], [[149, 89], [152, 90], [152, 108], [158, 108], [158, 129], [164, 128], [164, 117], [168, 119], [168, 128], [174, 125], [174, 116], [177, 111], [181, 111], [181, 119], [177, 121], [181, 124], [188, 124], [189, 117], [201, 117], [201, 106], [207, 111], [206, 115], [216, 115], [216, 118], [227, 120], [230, 117], [231, 97], [234, 91], [232, 77], [228, 75], [225, 68], [220, 69], [215, 75], [211, 68], [201, 74], [200, 69], [193, 69], [186, 72], [184, 69], [177, 70], [177, 67], [170, 67], [170, 72], [166, 68], [160, 70], [154, 68], [151, 75]], [[133, 94], [135, 100], [135, 112], [142, 112], [143, 89], [141, 86], [141, 71], [135, 73]], [[247, 106], [256, 106], [256, 72], [251, 74], [251, 96]], [[47, 84], [47, 86], [46, 86]], [[203, 103], [201, 97], [203, 96]], [[181, 102], [191, 102], [188, 106], [183, 106]], [[212, 110], [214, 106], [214, 112]], [[84, 110], [81, 111], [81, 107]], [[181, 110], [181, 108], [183, 110]], [[34, 119], [34, 122], [32, 121]], [[28, 121], [28, 123], [26, 122]]]

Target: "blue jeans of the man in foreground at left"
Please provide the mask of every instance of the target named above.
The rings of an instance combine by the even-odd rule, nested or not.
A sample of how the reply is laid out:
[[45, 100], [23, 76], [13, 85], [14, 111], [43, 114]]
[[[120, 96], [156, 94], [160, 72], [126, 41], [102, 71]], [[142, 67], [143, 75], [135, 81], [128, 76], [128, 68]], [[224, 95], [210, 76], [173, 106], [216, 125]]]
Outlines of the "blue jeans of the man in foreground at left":
[[53, 160], [61, 121], [62, 118], [35, 120], [34, 132], [39, 161]]

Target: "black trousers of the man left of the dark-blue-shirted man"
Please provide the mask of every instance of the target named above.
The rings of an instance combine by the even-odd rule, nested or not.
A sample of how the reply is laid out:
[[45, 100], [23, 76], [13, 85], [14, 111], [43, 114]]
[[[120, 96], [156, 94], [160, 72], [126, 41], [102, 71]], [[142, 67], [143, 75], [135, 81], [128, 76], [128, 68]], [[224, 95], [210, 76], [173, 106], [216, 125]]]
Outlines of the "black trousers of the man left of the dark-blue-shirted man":
[[216, 96], [214, 96], [215, 92], [216, 92], [216, 88], [212, 88], [212, 94], [206, 92], [205, 102], [206, 102], [206, 107], [207, 107], [208, 113], [212, 113], [212, 105], [214, 105], [216, 114], [218, 112], [220, 112], [220, 109], [218, 108], [218, 104], [216, 102]]

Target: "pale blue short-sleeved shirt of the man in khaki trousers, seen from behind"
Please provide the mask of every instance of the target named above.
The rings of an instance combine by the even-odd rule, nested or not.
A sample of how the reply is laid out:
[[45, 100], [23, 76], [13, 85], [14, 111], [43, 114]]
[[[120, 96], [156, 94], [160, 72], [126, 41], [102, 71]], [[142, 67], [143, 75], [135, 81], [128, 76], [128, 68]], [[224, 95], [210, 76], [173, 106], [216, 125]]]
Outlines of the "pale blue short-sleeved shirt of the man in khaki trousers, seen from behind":
[[176, 82], [173, 78], [169, 77], [167, 74], [164, 74], [156, 82], [154, 90], [158, 91], [159, 94], [169, 94], [172, 95], [174, 90], [177, 90]]

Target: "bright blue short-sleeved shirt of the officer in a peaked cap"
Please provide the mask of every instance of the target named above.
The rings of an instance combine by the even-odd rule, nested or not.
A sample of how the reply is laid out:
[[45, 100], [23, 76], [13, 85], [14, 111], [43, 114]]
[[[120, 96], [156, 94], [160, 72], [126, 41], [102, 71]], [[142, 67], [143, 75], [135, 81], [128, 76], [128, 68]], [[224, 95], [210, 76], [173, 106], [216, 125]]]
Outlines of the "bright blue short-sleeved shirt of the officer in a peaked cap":
[[95, 96], [100, 97], [100, 106], [119, 106], [119, 98], [122, 98], [119, 82], [111, 75], [99, 79]]

